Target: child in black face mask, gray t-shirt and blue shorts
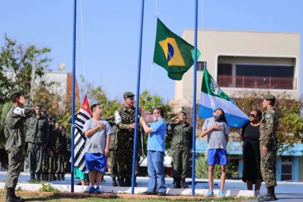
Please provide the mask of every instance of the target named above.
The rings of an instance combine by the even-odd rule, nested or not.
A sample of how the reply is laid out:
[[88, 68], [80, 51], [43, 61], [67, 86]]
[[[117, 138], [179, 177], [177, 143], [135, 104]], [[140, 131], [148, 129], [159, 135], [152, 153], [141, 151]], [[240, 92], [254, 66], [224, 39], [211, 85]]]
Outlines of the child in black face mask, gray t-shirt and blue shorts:
[[213, 117], [207, 118], [202, 126], [201, 137], [207, 135], [208, 143], [208, 181], [209, 191], [207, 196], [214, 196], [213, 182], [215, 164], [221, 165], [221, 184], [219, 196], [224, 197], [224, 183], [226, 177], [228, 127], [224, 111], [216, 109]]

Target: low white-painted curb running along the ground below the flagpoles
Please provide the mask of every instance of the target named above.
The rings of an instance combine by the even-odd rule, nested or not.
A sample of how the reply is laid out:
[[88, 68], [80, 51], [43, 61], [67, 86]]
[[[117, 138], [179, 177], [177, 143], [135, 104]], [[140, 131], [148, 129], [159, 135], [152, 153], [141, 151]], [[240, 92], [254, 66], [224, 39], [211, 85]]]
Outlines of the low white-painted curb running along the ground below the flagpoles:
[[[51, 184], [51, 183], [50, 183]], [[4, 189], [5, 183], [0, 183], [0, 189]], [[38, 191], [42, 184], [30, 184], [30, 183], [18, 183], [17, 188], [21, 187], [22, 190], [26, 191]], [[57, 188], [63, 192], [70, 192], [71, 187], [70, 185], [61, 185], [61, 184], [52, 184], [53, 188]], [[81, 186], [75, 185], [74, 192], [85, 192], [89, 189], [89, 186]], [[131, 187], [112, 187], [112, 186], [100, 186], [100, 189], [103, 193], [112, 193], [112, 194], [131, 194]], [[147, 187], [135, 187], [135, 194], [140, 194], [147, 190]], [[206, 196], [208, 192], [207, 189], [195, 189], [195, 195], [198, 196]], [[191, 189], [171, 189], [168, 188], [166, 191], [168, 195], [181, 195], [181, 196], [191, 196]], [[219, 190], [214, 190], [214, 194], [218, 195]], [[232, 197], [253, 197], [255, 196], [255, 192], [252, 190], [225, 190], [226, 196]]]

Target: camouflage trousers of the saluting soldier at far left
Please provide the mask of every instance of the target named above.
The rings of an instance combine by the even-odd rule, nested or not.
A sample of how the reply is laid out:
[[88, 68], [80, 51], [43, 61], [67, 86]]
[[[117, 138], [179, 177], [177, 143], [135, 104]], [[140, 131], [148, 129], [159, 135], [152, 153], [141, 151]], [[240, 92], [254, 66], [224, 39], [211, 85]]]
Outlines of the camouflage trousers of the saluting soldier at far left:
[[6, 174], [6, 186], [15, 188], [21, 171], [23, 159], [23, 146], [8, 149], [8, 170]]

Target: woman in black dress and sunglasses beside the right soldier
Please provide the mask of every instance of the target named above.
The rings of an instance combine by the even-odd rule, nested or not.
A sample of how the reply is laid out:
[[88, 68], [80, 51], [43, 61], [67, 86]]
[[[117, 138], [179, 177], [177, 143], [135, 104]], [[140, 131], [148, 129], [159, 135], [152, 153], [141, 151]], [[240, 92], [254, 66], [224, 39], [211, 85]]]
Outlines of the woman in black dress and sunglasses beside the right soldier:
[[241, 136], [243, 143], [243, 176], [242, 180], [247, 184], [247, 189], [252, 190], [255, 184], [255, 195], [260, 196], [261, 182], [263, 181], [260, 171], [260, 121], [262, 113], [253, 110], [249, 114], [250, 123], [242, 128]]

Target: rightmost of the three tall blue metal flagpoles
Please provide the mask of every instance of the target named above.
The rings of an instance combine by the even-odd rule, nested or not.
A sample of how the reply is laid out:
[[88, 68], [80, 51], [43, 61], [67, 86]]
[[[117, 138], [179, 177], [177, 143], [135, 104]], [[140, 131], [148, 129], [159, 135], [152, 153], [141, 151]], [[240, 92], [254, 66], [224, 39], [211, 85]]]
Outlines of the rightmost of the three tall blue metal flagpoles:
[[197, 94], [197, 28], [198, 28], [198, 0], [195, 1], [195, 44], [194, 44], [194, 91], [192, 106], [192, 169], [191, 196], [195, 196], [195, 157], [196, 157], [196, 94]]

